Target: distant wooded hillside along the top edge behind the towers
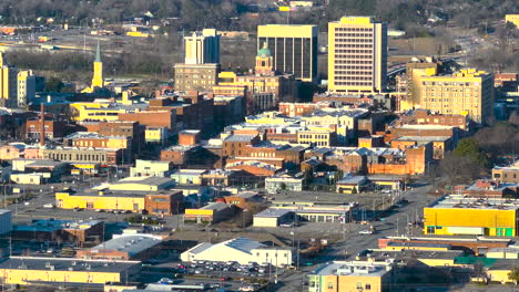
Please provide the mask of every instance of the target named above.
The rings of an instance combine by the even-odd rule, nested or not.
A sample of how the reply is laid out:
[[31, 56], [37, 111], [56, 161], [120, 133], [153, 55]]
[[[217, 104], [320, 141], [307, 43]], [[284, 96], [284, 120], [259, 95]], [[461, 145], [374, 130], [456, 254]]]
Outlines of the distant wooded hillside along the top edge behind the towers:
[[[156, 19], [173, 18], [172, 29], [193, 30], [215, 27], [220, 30], [255, 30], [255, 24], [285, 22], [285, 14], [275, 12], [276, 1], [252, 0], [2, 0], [0, 23], [34, 24], [48, 18], [71, 24], [121, 22], [143, 17], [150, 11]], [[501, 20], [506, 13], [519, 13], [517, 0], [315, 0], [328, 7], [304, 12], [292, 12], [294, 23], [326, 22], [344, 14], [372, 14], [397, 29], [416, 24], [452, 20], [461, 27], [476, 27], [491, 20]], [[260, 6], [256, 6], [258, 3]], [[247, 12], [260, 12], [250, 18]], [[240, 19], [237, 19], [240, 18]]]

